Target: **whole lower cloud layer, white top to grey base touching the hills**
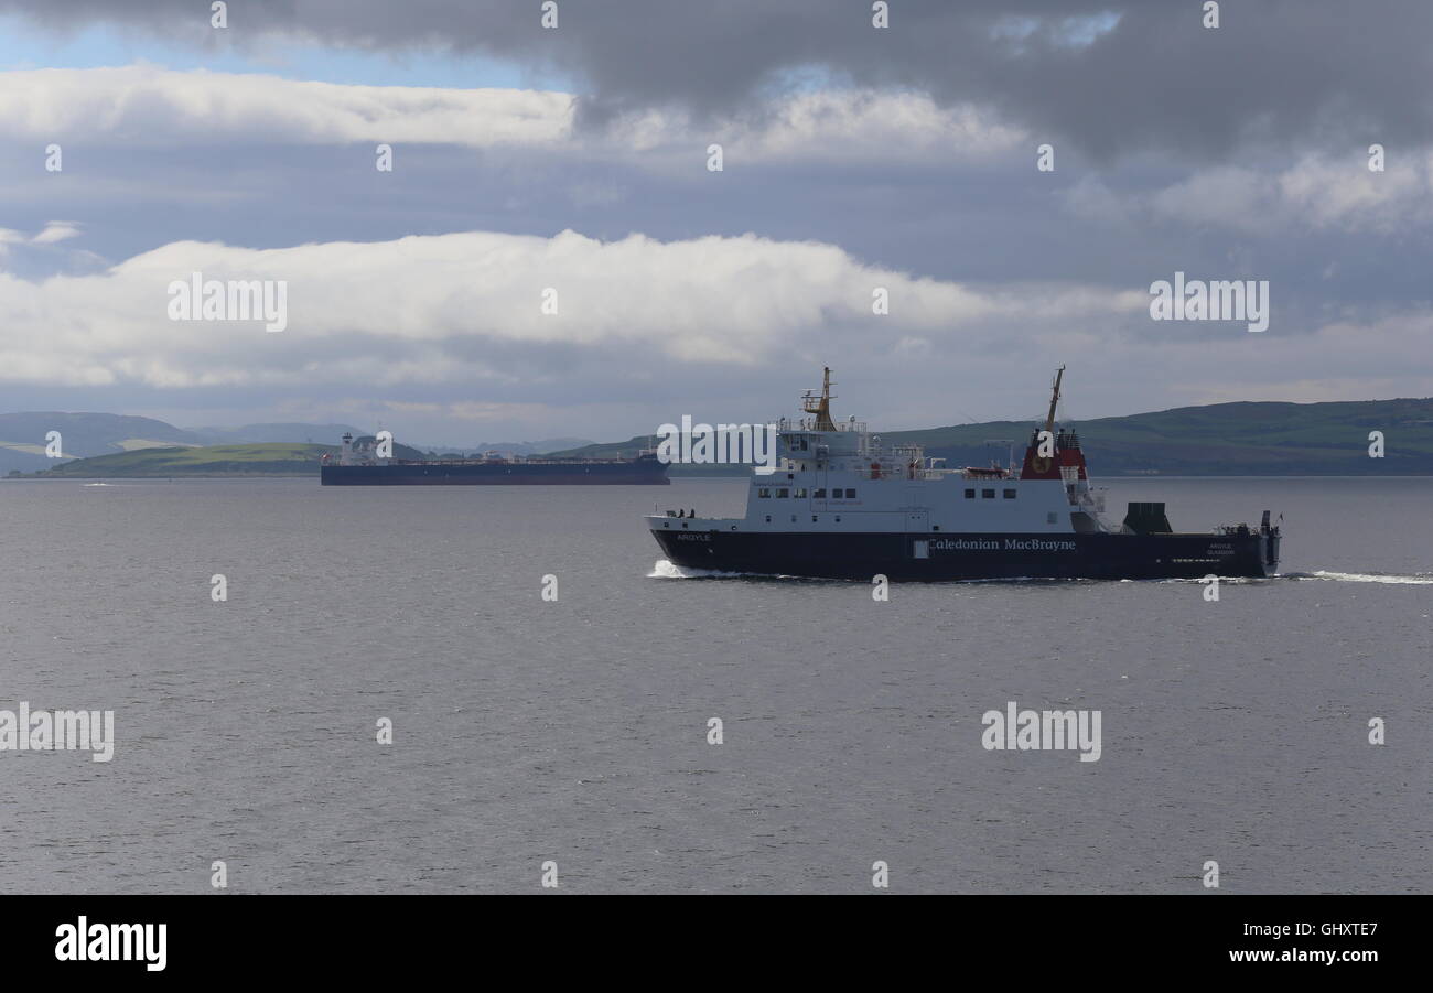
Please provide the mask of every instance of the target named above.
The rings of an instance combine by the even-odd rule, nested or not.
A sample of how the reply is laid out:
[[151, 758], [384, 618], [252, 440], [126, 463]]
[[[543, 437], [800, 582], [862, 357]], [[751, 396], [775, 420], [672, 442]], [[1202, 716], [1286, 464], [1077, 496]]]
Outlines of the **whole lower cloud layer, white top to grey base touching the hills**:
[[[288, 281], [288, 330], [169, 321], [168, 285], [193, 271]], [[542, 312], [549, 287], [556, 315]], [[877, 287], [886, 317], [871, 312]], [[175, 242], [99, 274], [0, 274], [0, 380], [10, 395], [86, 388], [148, 397], [148, 410], [381, 418], [433, 438], [459, 423], [572, 433], [580, 417], [579, 433], [616, 437], [684, 411], [749, 420], [780, 413], [782, 391], [821, 364], [837, 367], [848, 413], [886, 427], [1033, 416], [1062, 363], [1075, 417], [1426, 393], [1426, 308], [1340, 314], [1303, 332], [1281, 314], [1265, 334], [1155, 324], [1142, 289], [931, 279], [755, 235]]]

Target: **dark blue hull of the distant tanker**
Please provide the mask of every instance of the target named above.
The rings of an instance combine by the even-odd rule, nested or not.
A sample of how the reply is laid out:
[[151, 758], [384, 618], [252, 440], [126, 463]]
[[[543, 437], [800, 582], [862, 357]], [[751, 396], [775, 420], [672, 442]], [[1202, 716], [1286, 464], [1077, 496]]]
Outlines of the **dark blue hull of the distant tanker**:
[[433, 461], [324, 466], [324, 486], [666, 486], [666, 466], [633, 461]]

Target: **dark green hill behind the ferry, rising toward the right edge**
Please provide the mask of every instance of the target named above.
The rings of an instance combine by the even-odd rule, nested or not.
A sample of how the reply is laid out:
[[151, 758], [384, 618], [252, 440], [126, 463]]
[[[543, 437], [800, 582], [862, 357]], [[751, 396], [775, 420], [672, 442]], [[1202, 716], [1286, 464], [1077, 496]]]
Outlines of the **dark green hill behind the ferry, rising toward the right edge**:
[[[1344, 403], [1228, 403], [1151, 414], [1101, 417], [1075, 427], [1096, 476], [1429, 476], [1433, 474], [1433, 398]], [[1019, 460], [1035, 424], [987, 421], [916, 431], [877, 431], [886, 441], [921, 444], [950, 467], [1005, 463], [1009, 438]], [[1369, 433], [1383, 431], [1384, 457], [1369, 457]], [[590, 444], [559, 456], [631, 457], [651, 436]], [[674, 476], [744, 474], [729, 466], [672, 466]]]

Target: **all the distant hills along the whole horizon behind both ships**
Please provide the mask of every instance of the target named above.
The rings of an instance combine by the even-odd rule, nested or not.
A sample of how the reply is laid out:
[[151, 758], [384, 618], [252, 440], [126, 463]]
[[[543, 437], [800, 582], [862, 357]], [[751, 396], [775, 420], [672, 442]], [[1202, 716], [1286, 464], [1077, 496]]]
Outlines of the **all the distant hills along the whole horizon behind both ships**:
[[[1080, 434], [1095, 476], [1430, 476], [1433, 474], [1433, 398], [1346, 403], [1230, 403], [1178, 407], [1129, 417], [1101, 417], [1065, 424]], [[914, 443], [950, 467], [1005, 461], [1009, 438], [1016, 459], [1033, 423], [989, 421], [916, 431], [880, 431], [891, 443]], [[244, 444], [203, 444], [202, 436], [149, 417], [116, 414], [0, 414], [0, 470], [49, 476], [224, 476], [314, 474], [324, 451], [337, 451], [344, 424], [251, 424], [234, 431], [304, 431], [334, 436], [334, 444], [294, 438]], [[67, 456], [92, 456], [56, 464], [44, 457], [44, 434], [62, 433]], [[228, 428], [225, 428], [228, 430]], [[1383, 431], [1386, 454], [1369, 457], [1369, 433]], [[569, 438], [572, 440], [572, 438]], [[629, 459], [651, 436], [606, 444], [582, 444], [550, 454]], [[535, 448], [542, 443], [532, 444]], [[162, 446], [162, 447], [158, 447]], [[202, 447], [198, 447], [202, 446]], [[477, 448], [474, 451], [480, 451]], [[451, 448], [434, 448], [444, 454]], [[394, 444], [398, 459], [426, 453]], [[674, 476], [745, 474], [739, 466], [674, 466]]]

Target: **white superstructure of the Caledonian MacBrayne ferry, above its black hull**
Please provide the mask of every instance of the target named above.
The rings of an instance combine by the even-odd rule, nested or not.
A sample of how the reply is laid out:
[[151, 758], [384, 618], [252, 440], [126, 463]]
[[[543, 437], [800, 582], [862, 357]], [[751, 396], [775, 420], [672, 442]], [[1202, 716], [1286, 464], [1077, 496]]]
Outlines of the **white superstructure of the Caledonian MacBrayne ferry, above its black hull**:
[[[898, 532], [1070, 534], [1119, 530], [1103, 519], [1105, 491], [1059, 464], [1049, 479], [1022, 479], [1009, 467], [947, 469], [921, 446], [888, 444], [854, 417], [833, 421], [830, 370], [810, 417], [777, 423], [777, 470], [754, 473], [745, 517], [653, 514], [656, 529], [751, 532]], [[1073, 446], [1072, 431], [1060, 438]], [[1046, 460], [1046, 466], [1048, 466]]]

